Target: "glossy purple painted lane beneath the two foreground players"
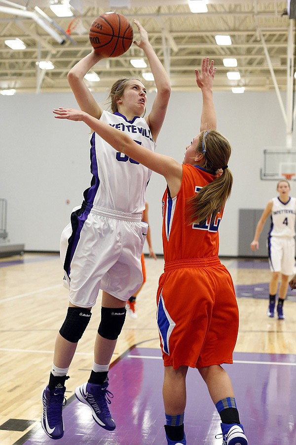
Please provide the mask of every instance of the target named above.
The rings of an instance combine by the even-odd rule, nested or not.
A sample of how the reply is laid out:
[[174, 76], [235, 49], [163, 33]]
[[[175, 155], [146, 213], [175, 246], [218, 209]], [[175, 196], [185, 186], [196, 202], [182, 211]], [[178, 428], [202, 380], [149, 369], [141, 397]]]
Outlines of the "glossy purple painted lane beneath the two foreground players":
[[[296, 356], [234, 354], [224, 365], [230, 375], [249, 445], [296, 444]], [[165, 445], [160, 350], [133, 348], [110, 369], [114, 399], [110, 405], [116, 429], [100, 428], [86, 405], [73, 400], [63, 410], [65, 435], [59, 445]], [[174, 389], [172, 388], [172, 391]], [[34, 401], [34, 403], [41, 402]], [[188, 445], [221, 445], [215, 440], [220, 417], [196, 369], [187, 375], [185, 432]], [[27, 436], [28, 438], [28, 436]], [[17, 444], [49, 445], [41, 429]]]

